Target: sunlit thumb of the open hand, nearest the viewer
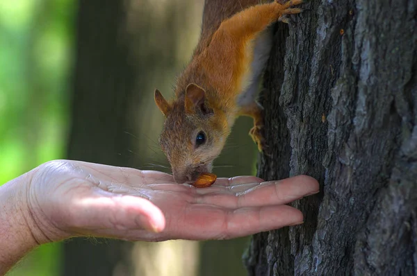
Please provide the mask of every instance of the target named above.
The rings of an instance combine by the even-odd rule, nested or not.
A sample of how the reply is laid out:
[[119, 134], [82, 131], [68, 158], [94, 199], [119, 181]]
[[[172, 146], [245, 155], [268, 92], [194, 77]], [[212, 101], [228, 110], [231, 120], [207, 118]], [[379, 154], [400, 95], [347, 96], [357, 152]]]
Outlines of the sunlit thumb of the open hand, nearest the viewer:
[[161, 209], [145, 198], [136, 196], [85, 197], [73, 200], [65, 223], [79, 234], [120, 234], [128, 230], [145, 229], [161, 232], [165, 217]]

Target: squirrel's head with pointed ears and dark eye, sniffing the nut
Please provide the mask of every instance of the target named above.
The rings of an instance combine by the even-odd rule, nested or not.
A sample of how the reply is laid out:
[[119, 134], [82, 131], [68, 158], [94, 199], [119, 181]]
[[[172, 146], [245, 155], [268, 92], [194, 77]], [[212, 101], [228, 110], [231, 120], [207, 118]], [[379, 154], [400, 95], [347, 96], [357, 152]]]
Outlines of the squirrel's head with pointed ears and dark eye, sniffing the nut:
[[183, 98], [168, 103], [155, 90], [155, 103], [165, 115], [159, 144], [171, 164], [177, 183], [193, 182], [200, 173], [211, 173], [229, 135], [227, 118], [215, 108], [202, 87], [191, 83]]

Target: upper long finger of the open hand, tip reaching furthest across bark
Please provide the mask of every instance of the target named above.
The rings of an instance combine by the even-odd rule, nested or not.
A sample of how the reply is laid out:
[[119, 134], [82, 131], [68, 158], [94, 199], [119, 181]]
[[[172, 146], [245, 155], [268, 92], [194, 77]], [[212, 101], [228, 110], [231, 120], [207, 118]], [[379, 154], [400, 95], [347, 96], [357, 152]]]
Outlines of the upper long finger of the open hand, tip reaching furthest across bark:
[[279, 181], [263, 182], [244, 191], [231, 189], [229, 193], [206, 193], [196, 198], [196, 203], [216, 205], [225, 208], [281, 205], [293, 202], [304, 196], [318, 193], [317, 180], [307, 175], [298, 175]]

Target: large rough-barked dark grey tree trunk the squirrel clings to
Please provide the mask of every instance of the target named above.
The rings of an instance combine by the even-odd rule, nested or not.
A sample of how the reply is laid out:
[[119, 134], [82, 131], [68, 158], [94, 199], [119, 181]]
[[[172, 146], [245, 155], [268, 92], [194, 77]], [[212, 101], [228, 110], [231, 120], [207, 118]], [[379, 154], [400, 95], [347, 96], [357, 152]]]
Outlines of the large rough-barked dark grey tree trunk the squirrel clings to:
[[277, 24], [259, 175], [311, 175], [321, 192], [293, 203], [303, 225], [253, 237], [249, 274], [416, 275], [417, 3], [303, 8]]

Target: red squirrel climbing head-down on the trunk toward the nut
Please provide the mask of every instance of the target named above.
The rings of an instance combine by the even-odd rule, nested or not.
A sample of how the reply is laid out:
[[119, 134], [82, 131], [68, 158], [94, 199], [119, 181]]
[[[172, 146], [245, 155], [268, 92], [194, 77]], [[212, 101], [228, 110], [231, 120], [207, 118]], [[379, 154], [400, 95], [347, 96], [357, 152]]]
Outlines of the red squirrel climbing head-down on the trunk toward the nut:
[[239, 116], [254, 119], [250, 135], [259, 150], [265, 148], [256, 94], [272, 46], [268, 27], [278, 20], [288, 23], [285, 16], [301, 12], [291, 8], [300, 3], [206, 0], [202, 33], [174, 99], [166, 101], [158, 89], [154, 93], [165, 116], [159, 144], [177, 183], [211, 173]]

